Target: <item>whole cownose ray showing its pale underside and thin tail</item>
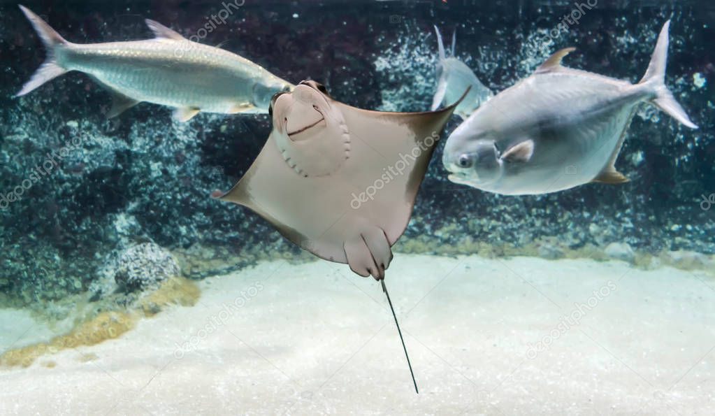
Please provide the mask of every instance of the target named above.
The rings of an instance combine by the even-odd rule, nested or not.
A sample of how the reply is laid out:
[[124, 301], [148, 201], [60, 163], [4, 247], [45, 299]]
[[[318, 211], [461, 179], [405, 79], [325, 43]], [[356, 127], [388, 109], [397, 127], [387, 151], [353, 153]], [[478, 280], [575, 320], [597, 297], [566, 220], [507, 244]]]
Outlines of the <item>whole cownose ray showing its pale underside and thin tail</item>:
[[302, 81], [272, 99], [272, 131], [248, 171], [212, 196], [248, 207], [317, 257], [372, 275], [389, 302], [390, 247], [405, 232], [439, 134], [460, 101], [435, 112], [375, 112]]

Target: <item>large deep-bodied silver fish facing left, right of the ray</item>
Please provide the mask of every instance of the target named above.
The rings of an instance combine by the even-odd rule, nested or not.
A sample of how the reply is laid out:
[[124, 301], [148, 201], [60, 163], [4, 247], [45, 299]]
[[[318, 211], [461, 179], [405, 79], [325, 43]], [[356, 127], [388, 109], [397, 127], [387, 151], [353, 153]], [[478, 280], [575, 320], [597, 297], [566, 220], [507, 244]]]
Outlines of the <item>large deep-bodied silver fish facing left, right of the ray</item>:
[[697, 128], [665, 84], [669, 26], [638, 84], [561, 66], [573, 48], [553, 54], [450, 135], [443, 154], [449, 179], [508, 195], [627, 182], [614, 164], [639, 104], [654, 104]]

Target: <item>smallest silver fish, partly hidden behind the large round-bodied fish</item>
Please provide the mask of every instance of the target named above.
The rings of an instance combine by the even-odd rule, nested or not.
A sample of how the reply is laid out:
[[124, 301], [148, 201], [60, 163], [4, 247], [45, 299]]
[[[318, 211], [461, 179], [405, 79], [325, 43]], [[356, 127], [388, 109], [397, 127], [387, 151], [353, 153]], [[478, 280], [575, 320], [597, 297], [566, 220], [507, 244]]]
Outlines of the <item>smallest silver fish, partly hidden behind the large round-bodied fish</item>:
[[458, 114], [462, 119], [466, 119], [472, 114], [475, 109], [490, 99], [494, 94], [484, 84], [479, 81], [474, 72], [469, 69], [463, 61], [455, 58], [454, 46], [457, 41], [457, 31], [452, 35], [452, 49], [450, 57], [445, 54], [445, 46], [442, 42], [442, 35], [439, 29], [435, 26], [437, 34], [437, 46], [439, 48], [440, 60], [437, 64], [437, 91], [432, 100], [432, 111], [435, 111], [443, 103], [457, 102], [464, 94], [464, 91], [470, 89], [465, 99], [457, 106], [455, 114]]

